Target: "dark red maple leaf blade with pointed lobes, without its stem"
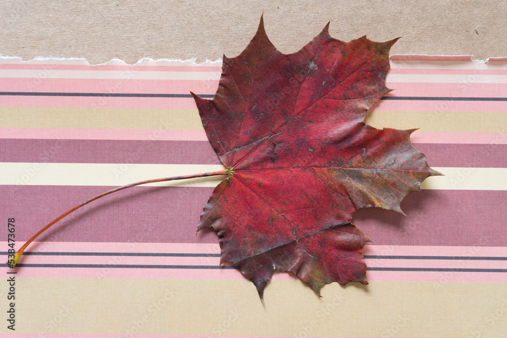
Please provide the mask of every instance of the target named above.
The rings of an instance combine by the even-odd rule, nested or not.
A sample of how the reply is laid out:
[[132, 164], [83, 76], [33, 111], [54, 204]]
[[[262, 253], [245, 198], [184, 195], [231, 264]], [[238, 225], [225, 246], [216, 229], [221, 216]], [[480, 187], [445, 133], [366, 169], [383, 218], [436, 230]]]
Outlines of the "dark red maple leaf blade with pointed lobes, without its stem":
[[228, 168], [197, 231], [216, 231], [221, 264], [232, 262], [261, 300], [275, 270], [292, 272], [317, 294], [335, 281], [368, 284], [361, 250], [370, 240], [350, 222], [352, 213], [403, 213], [402, 199], [440, 175], [412, 146], [415, 129], [364, 123], [390, 91], [388, 54], [397, 39], [344, 43], [328, 26], [299, 52], [282, 54], [261, 17], [246, 49], [224, 56], [213, 100], [192, 93]]

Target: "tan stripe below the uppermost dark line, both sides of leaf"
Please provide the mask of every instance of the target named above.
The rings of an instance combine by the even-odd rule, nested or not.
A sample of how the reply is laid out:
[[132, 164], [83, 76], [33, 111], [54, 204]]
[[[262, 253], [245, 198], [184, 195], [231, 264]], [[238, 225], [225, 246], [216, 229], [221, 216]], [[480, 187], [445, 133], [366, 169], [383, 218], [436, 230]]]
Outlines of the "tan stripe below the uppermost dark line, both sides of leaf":
[[[421, 132], [507, 133], [507, 113], [370, 111], [377, 128]], [[0, 107], [0, 126], [9, 128], [200, 129], [197, 109]]]

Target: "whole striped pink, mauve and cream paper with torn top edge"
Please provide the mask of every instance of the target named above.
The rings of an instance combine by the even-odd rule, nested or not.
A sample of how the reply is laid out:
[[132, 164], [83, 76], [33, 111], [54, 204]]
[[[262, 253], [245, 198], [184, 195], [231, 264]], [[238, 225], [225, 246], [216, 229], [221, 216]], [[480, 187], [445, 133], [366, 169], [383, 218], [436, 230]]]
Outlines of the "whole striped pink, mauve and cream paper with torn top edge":
[[[219, 170], [189, 92], [212, 97], [220, 63], [0, 60], [0, 245], [16, 249], [65, 210], [141, 179]], [[0, 332], [20, 336], [507, 335], [507, 60], [391, 57], [395, 89], [367, 123], [420, 128], [431, 167], [407, 216], [356, 212], [372, 239], [370, 285], [323, 298], [287, 274], [257, 290], [195, 235], [220, 178], [139, 186], [57, 223], [15, 270], [15, 331], [0, 282]], [[8, 275], [8, 272], [16, 274]], [[59, 335], [58, 335], [59, 334]], [[44, 335], [43, 335], [44, 336]]]

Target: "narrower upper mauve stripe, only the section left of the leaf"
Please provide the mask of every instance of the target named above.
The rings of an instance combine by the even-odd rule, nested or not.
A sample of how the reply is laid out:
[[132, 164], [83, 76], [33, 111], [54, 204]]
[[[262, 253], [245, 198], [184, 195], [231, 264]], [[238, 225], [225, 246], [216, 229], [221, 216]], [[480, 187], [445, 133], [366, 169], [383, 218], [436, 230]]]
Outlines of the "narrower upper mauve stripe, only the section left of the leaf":
[[2, 162], [220, 164], [208, 141], [0, 139]]

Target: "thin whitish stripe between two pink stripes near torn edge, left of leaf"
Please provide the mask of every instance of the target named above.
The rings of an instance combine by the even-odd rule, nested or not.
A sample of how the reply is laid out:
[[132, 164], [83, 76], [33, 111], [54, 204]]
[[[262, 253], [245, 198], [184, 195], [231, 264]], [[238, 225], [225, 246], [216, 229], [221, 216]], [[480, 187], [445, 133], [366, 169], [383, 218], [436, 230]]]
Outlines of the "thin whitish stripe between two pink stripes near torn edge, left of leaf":
[[[41, 76], [40, 69], [0, 69], [1, 78], [35, 78]], [[135, 71], [132, 70], [47, 70], [46, 79], [118, 79], [118, 80], [220, 80], [220, 71]]]

